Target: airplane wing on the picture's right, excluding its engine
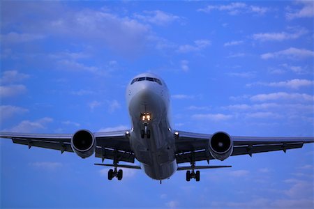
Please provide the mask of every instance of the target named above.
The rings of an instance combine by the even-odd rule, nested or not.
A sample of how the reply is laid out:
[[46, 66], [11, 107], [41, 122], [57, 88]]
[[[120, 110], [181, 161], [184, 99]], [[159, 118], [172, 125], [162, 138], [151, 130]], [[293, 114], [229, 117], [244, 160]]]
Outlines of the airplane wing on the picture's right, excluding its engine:
[[[200, 160], [213, 160], [209, 150], [209, 139], [212, 134], [197, 134], [177, 131], [176, 148], [177, 162], [191, 162]], [[301, 148], [304, 144], [313, 143], [314, 137], [234, 137], [234, 155], [250, 155], [269, 151]]]

